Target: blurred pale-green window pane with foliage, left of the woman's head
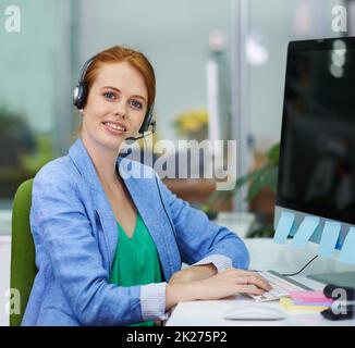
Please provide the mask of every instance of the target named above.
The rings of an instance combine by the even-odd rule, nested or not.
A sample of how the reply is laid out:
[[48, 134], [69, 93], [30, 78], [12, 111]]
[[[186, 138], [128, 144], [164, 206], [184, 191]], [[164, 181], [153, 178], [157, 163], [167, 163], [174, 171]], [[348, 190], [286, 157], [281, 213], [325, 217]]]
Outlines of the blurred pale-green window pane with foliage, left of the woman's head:
[[[1, 22], [11, 3], [1, 2]], [[71, 117], [71, 91], [63, 70], [70, 57], [69, 0], [15, 1], [20, 32], [0, 28], [0, 207], [10, 207], [15, 189], [46, 159], [61, 152], [58, 129]], [[70, 24], [70, 22], [69, 22]], [[68, 94], [68, 95], [66, 95]]]

